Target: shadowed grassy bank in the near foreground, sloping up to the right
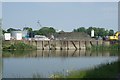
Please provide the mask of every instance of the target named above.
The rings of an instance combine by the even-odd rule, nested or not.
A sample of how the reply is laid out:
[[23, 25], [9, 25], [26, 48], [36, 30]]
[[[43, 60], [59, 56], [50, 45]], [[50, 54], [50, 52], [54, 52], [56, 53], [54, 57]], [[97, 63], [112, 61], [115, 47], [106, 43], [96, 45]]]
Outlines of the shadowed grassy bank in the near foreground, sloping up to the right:
[[[54, 77], [58, 78], [117, 78], [119, 72], [119, 63], [112, 62], [107, 64], [101, 64], [96, 66], [95, 68], [90, 68], [86, 70], [77, 70], [71, 71], [67, 76], [63, 76], [62, 74], [56, 74]], [[53, 77], [53, 78], [54, 78]]]

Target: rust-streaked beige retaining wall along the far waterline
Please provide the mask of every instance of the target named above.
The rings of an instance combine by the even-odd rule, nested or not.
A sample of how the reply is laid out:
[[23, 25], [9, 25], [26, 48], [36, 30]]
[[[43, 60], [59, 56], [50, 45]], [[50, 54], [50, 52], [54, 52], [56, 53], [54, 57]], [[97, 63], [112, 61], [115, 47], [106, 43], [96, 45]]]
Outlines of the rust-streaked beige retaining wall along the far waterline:
[[50, 41], [25, 41], [34, 45], [38, 50], [85, 50], [91, 46], [110, 45], [109, 41], [103, 40], [50, 40]]

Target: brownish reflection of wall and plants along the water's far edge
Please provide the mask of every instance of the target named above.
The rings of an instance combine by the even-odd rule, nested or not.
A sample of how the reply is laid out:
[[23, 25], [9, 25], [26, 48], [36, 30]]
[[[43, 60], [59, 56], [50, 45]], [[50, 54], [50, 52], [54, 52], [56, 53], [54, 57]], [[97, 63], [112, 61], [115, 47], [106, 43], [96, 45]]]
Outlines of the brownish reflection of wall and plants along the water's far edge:
[[3, 51], [3, 57], [96, 57], [118, 56], [111, 51], [86, 51], [86, 50], [36, 50], [36, 51]]

